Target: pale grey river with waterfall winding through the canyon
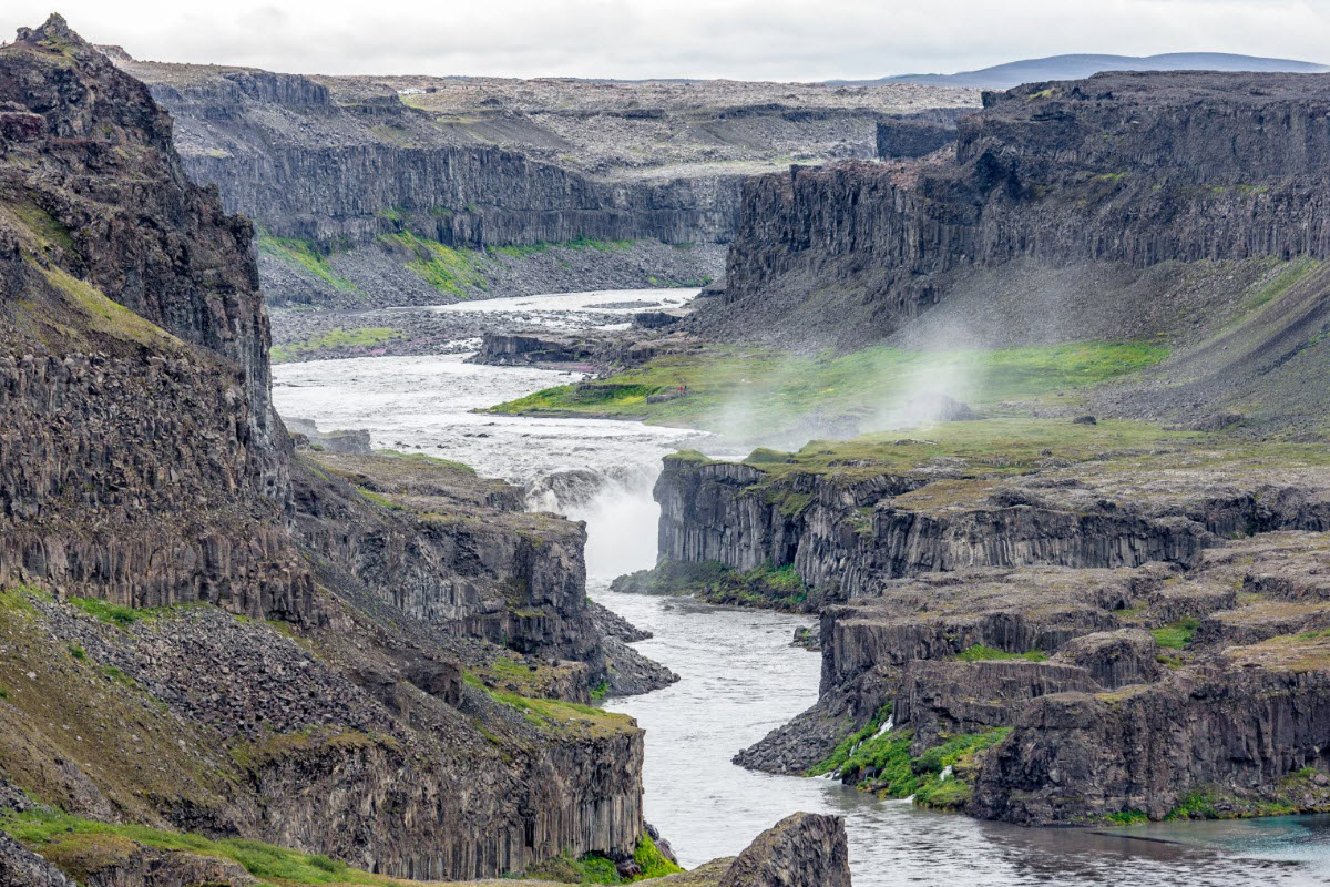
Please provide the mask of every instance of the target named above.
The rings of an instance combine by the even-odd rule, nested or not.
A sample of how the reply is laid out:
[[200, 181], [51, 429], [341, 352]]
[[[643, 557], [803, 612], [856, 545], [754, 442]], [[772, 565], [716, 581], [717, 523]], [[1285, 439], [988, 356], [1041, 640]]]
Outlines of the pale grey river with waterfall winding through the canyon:
[[[579, 305], [656, 302], [677, 291], [563, 294], [541, 302], [551, 326]], [[541, 297], [531, 297], [531, 302]], [[557, 305], [557, 307], [556, 307]], [[532, 306], [523, 306], [532, 307]], [[450, 311], [467, 310], [450, 306]], [[495, 310], [476, 303], [473, 310]], [[559, 318], [563, 317], [563, 320]], [[1019, 828], [878, 801], [826, 779], [750, 773], [730, 757], [817, 698], [819, 662], [790, 645], [807, 618], [717, 608], [686, 598], [620, 594], [614, 576], [656, 559], [660, 457], [702, 435], [640, 423], [501, 418], [477, 407], [567, 383], [548, 370], [472, 366], [460, 356], [362, 358], [274, 367], [286, 416], [323, 430], [368, 428], [376, 448], [426, 452], [533, 491], [539, 504], [588, 521], [588, 593], [654, 633], [636, 645], [681, 681], [606, 703], [646, 730], [646, 818], [685, 866], [733, 855], [797, 810], [846, 818], [857, 887], [898, 884], [1325, 884], [1330, 817], [1154, 823], [1112, 830]], [[572, 504], [543, 480], [591, 469], [605, 481]]]

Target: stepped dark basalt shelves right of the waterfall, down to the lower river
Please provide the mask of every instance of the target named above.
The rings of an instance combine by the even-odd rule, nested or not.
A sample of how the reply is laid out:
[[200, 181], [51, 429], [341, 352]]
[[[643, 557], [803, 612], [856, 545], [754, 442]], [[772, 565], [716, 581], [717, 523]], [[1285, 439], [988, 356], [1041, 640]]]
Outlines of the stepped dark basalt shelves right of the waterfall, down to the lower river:
[[657, 574], [793, 568], [830, 601], [818, 703], [735, 762], [1040, 824], [1330, 807], [1323, 472], [1209, 443], [669, 457]]

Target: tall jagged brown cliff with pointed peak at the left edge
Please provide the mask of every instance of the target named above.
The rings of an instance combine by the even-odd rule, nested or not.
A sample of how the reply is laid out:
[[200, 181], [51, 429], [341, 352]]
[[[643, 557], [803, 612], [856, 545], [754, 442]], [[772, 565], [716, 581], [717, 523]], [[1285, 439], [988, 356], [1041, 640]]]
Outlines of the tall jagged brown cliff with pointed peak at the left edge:
[[290, 444], [249, 223], [189, 182], [146, 88], [61, 20], [0, 68], [0, 102], [43, 121], [0, 173], [0, 578], [314, 618], [281, 529]]

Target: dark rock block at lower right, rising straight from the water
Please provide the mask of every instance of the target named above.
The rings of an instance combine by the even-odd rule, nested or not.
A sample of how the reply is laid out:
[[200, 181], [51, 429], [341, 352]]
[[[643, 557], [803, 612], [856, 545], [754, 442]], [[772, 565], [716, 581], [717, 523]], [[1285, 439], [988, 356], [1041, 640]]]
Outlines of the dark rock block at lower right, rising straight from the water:
[[[1289, 777], [1330, 769], [1327, 718], [1326, 672], [1306, 660], [1180, 673], [1116, 694], [1045, 696], [986, 759], [974, 810], [1039, 824], [1129, 811], [1161, 819], [1206, 791], [1216, 793], [1209, 803], [1234, 811], [1289, 803]], [[1306, 789], [1295, 809], [1330, 807], [1330, 786]]]

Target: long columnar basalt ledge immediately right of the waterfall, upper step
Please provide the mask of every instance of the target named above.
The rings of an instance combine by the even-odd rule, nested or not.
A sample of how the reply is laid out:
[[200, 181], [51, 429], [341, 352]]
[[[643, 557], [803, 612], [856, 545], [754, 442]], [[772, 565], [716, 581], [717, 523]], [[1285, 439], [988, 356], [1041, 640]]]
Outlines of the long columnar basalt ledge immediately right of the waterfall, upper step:
[[1192, 477], [1184, 488], [1160, 476], [1127, 501], [1115, 480], [1083, 481], [1071, 469], [943, 487], [946, 469], [855, 468], [672, 456], [656, 484], [661, 559], [741, 570], [793, 564], [810, 586], [855, 597], [895, 577], [972, 567], [1190, 565], [1234, 532], [1330, 527], [1330, 504], [1310, 475], [1287, 485]]

